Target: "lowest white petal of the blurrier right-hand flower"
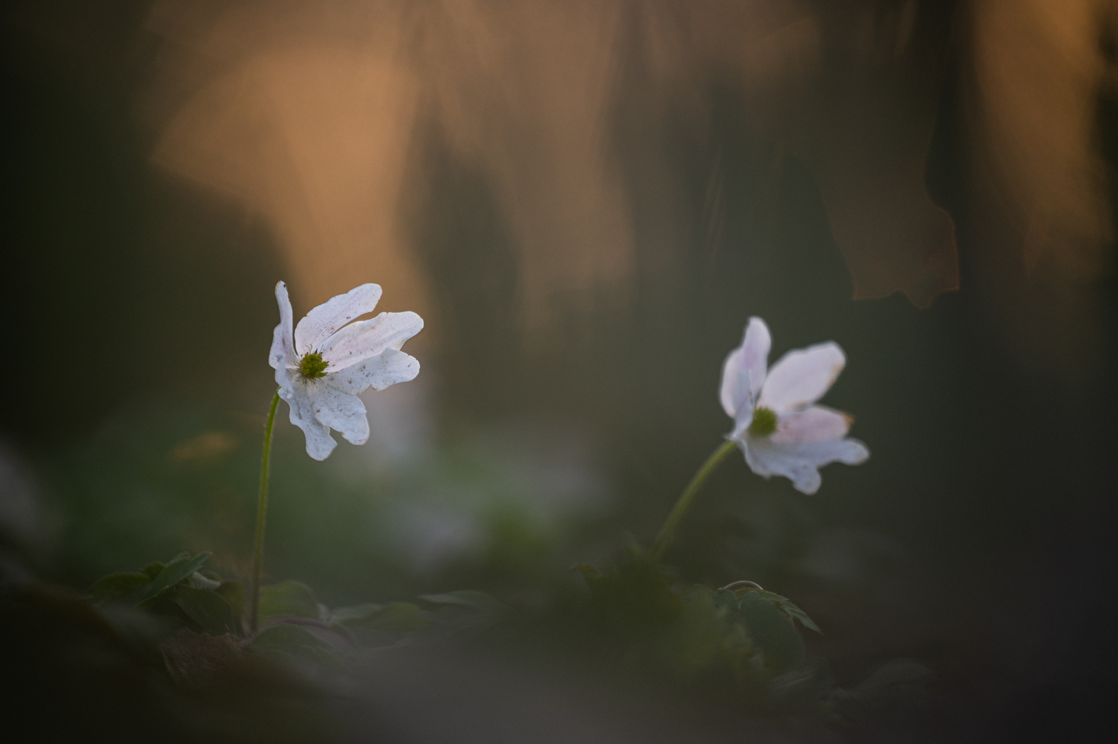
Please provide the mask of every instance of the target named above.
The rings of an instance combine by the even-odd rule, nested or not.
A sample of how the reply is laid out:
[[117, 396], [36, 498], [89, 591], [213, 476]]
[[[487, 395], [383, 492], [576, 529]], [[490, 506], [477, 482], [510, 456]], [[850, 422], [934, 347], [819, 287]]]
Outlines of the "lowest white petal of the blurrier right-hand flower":
[[749, 469], [758, 475], [783, 475], [802, 493], [819, 490], [819, 468], [831, 462], [856, 465], [865, 462], [870, 451], [854, 439], [827, 442], [797, 442], [780, 444], [764, 436], [746, 435], [739, 442], [746, 453]]

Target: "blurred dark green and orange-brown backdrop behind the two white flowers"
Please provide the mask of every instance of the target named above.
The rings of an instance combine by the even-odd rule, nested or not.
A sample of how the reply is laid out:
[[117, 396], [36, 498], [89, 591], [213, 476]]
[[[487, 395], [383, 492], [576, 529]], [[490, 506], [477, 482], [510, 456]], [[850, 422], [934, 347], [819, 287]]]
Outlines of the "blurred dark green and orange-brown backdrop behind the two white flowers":
[[268, 576], [542, 602], [651, 540], [756, 314], [774, 358], [843, 346], [873, 456], [812, 497], [733, 458], [681, 578], [793, 597], [841, 682], [920, 659], [953, 737], [1110, 699], [1115, 2], [39, 0], [2, 34], [8, 574], [246, 576], [273, 286], [371, 281], [423, 371], [322, 463], [281, 408]]

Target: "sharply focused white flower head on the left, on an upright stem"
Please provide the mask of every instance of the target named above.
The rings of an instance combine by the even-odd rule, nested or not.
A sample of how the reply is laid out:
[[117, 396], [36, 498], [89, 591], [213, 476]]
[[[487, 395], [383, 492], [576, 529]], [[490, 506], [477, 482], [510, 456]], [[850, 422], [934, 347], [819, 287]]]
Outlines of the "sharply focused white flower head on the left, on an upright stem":
[[306, 453], [315, 460], [325, 460], [338, 445], [331, 428], [353, 444], [368, 441], [369, 420], [359, 393], [382, 390], [419, 374], [419, 361], [400, 347], [423, 329], [423, 318], [382, 312], [345, 324], [372, 312], [379, 299], [378, 285], [362, 284], [306, 313], [292, 333], [287, 286], [276, 284], [280, 324], [268, 364], [276, 370], [280, 397], [291, 406], [291, 423], [306, 434]]

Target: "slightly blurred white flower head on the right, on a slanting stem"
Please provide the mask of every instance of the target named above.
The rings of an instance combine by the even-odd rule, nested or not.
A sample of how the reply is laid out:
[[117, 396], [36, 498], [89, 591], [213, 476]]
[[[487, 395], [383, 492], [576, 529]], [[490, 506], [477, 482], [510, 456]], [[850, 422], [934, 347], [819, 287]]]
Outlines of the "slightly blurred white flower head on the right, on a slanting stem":
[[823, 465], [856, 465], [870, 456], [864, 444], [846, 437], [851, 416], [812, 405], [839, 378], [846, 355], [834, 341], [816, 343], [789, 351], [767, 371], [771, 345], [765, 321], [750, 318], [741, 346], [726, 358], [720, 397], [733, 418], [727, 439], [758, 475], [784, 475], [796, 490], [814, 493]]

